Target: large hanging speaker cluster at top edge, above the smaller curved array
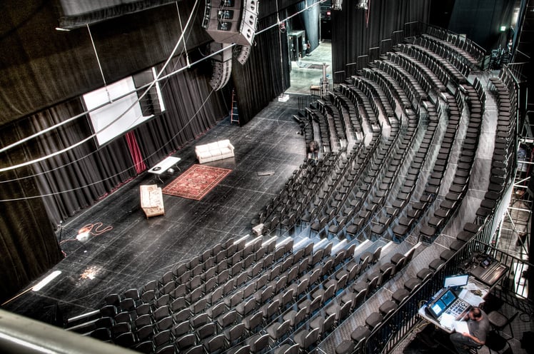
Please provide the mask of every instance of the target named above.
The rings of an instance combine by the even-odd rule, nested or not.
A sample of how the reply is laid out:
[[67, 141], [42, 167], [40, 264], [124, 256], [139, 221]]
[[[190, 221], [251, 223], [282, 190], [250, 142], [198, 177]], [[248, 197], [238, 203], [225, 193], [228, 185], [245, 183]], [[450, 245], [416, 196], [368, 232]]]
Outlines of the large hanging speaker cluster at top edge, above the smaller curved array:
[[257, 0], [206, 0], [202, 26], [218, 43], [250, 46], [257, 21]]

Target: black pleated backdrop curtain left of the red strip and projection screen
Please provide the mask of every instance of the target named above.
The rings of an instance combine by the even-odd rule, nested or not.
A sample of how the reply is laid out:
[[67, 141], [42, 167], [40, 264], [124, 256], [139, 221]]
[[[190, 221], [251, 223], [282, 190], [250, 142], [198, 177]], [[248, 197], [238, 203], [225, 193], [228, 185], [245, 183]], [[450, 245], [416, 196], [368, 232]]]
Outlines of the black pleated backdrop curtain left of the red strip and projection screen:
[[[4, 128], [2, 133], [11, 131], [14, 134], [3, 135], [16, 141], [82, 112], [84, 106], [81, 100], [73, 99], [19, 119], [9, 128]], [[69, 148], [91, 133], [89, 119], [84, 115], [10, 149], [6, 155], [17, 153], [24, 156], [17, 163], [34, 160]], [[96, 150], [96, 144], [91, 139], [69, 151], [34, 163], [31, 165], [31, 173], [22, 178], [35, 181], [39, 191], [34, 196], [43, 196], [49, 224], [55, 228], [59, 221], [91, 206], [120, 183], [135, 176], [132, 166], [123, 138], [116, 139], [99, 150]]]

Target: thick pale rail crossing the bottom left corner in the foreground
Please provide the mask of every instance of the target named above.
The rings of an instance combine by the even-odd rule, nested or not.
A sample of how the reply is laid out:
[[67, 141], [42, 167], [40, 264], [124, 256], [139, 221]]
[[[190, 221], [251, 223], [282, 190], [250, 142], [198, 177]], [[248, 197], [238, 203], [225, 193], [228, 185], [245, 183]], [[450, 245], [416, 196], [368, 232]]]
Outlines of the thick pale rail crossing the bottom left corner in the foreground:
[[129, 354], [127, 348], [63, 330], [0, 310], [0, 352], [59, 354]]

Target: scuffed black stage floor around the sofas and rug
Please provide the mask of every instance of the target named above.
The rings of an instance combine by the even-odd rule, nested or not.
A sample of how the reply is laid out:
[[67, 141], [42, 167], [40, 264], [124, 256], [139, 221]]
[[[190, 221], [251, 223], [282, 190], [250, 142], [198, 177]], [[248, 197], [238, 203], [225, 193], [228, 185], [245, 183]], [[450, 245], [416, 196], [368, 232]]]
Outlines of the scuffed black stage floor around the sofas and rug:
[[[217, 242], [247, 236], [253, 216], [306, 157], [304, 137], [297, 134], [300, 128], [292, 118], [297, 107], [296, 96], [283, 103], [274, 100], [246, 126], [231, 125], [227, 118], [177, 151], [174, 156], [181, 158], [178, 166], [185, 171], [198, 163], [196, 144], [228, 138], [235, 146], [235, 158], [207, 163], [232, 172], [201, 201], [163, 195], [165, 216], [147, 219], [140, 208], [139, 186], [152, 184], [153, 176], [144, 172], [67, 220], [61, 231], [66, 258], [52, 269], [61, 270], [61, 275], [42, 290], [11, 300], [4, 309], [44, 322], [54, 318], [56, 304], [65, 318], [80, 315], [99, 308], [109, 293], [141, 288]], [[262, 171], [274, 173], [258, 176]], [[163, 176], [163, 185], [179, 173]], [[91, 224], [94, 233], [111, 230], [84, 243], [77, 241], [79, 229]]]

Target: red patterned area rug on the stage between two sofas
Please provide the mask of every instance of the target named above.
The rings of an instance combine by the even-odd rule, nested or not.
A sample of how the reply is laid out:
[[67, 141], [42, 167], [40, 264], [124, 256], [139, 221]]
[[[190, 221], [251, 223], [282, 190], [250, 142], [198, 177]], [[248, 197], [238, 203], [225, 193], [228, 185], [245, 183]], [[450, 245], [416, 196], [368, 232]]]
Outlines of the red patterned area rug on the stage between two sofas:
[[193, 165], [163, 188], [171, 196], [200, 201], [232, 170], [204, 165]]

